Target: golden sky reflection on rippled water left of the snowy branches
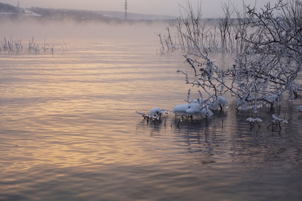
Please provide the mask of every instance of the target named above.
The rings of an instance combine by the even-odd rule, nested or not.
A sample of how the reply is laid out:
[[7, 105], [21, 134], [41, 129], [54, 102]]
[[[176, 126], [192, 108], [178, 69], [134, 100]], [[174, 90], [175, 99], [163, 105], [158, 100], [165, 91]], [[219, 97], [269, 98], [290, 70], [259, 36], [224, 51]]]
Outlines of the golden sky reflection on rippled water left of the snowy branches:
[[[92, 51], [2, 57], [1, 125], [9, 136], [2, 142], [11, 162], [2, 165], [2, 172], [47, 164], [156, 162], [140, 147], [146, 139], [133, 142], [128, 136], [134, 134], [131, 118], [141, 108], [140, 96], [162, 96], [159, 87], [169, 90], [173, 81], [162, 86], [165, 80], [158, 75], [174, 69], [150, 49], [126, 45], [140, 48], [140, 55], [137, 49], [111, 46], [104, 52], [96, 46]], [[156, 62], [150, 63], [151, 58]]]

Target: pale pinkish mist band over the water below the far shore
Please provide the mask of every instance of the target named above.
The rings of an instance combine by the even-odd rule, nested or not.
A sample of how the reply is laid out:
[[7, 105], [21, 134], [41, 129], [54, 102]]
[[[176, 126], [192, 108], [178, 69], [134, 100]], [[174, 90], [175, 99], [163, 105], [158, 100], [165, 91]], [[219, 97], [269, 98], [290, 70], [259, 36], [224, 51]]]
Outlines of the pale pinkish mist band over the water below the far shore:
[[[174, 27], [173, 24], [166, 26]], [[22, 38], [24, 42], [31, 40], [96, 40], [99, 41], [148, 41], [157, 40], [154, 32], [160, 33], [164, 31], [165, 23], [154, 22], [100, 22], [100, 21], [82, 21], [73, 20], [26, 20], [26, 21], [1, 21], [1, 41], [4, 37], [12, 39]], [[71, 45], [71, 44], [69, 44]]]

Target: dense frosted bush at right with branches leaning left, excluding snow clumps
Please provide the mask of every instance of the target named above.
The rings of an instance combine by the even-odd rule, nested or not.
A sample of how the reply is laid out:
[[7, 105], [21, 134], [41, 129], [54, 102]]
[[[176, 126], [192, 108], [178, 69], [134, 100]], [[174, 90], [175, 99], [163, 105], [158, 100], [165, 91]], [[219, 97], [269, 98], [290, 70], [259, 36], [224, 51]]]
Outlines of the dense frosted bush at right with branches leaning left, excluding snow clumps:
[[[275, 11], [281, 12], [275, 16]], [[215, 65], [209, 51], [204, 54], [203, 47], [188, 35], [198, 49], [185, 55], [195, 80], [190, 81], [184, 71], [178, 72], [186, 75], [187, 84], [203, 89], [208, 95], [206, 102], [213, 104], [218, 96], [231, 92], [237, 97], [239, 110], [253, 109], [256, 113], [263, 105], [281, 104], [284, 92], [289, 93], [289, 100], [300, 96], [302, 86], [295, 78], [302, 69], [302, 20], [295, 12], [302, 13], [302, 2], [279, 1], [274, 7], [266, 5], [260, 13], [249, 7], [246, 12], [249, 16], [241, 23], [255, 31], [249, 35], [238, 32], [236, 38], [245, 42], [245, 48], [235, 56], [232, 67], [223, 69]]]

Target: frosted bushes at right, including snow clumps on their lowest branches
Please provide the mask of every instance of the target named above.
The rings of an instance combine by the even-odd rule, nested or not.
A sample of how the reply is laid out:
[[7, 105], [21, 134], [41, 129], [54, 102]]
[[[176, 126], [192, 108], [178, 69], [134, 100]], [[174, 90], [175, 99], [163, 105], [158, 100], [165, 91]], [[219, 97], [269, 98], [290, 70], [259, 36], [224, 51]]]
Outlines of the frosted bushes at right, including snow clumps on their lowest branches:
[[[284, 93], [289, 94], [290, 101], [301, 97], [302, 85], [295, 81], [302, 69], [301, 0], [279, 0], [273, 7], [267, 4], [259, 13], [255, 8], [248, 6], [242, 18], [239, 11], [233, 10], [238, 17], [238, 26], [233, 26], [236, 36], [231, 39], [232, 36], [228, 33], [228, 40], [221, 38], [224, 52], [229, 51], [226, 41], [232, 41], [232, 46], [236, 45], [231, 48], [232, 52], [236, 52], [234, 64], [228, 68], [220, 68], [210, 59], [211, 48], [207, 49], [203, 42], [204, 33], [201, 32], [204, 28], [201, 28], [199, 23], [200, 9], [194, 14], [190, 6], [188, 4], [186, 20], [182, 18], [186, 32], [180, 30], [180, 20], [178, 21], [178, 39], [181, 49], [191, 51], [184, 57], [192, 73], [187, 74], [183, 70], [177, 72], [185, 75], [186, 84], [199, 87], [200, 97], [190, 102], [189, 90], [188, 99], [185, 100], [187, 103], [176, 105], [172, 113], [178, 116], [210, 117], [219, 107], [227, 107], [227, 100], [223, 97], [226, 93], [236, 97], [238, 110], [252, 109], [252, 116], [263, 106], [274, 107], [281, 104], [281, 96]], [[228, 6], [224, 9], [226, 12], [230, 11]], [[229, 20], [230, 15], [225, 14], [226, 20]], [[230, 28], [228, 22], [221, 23], [226, 29]], [[223, 27], [220, 27], [220, 30], [222, 29]], [[167, 31], [169, 37], [164, 37], [165, 44], [168, 50], [173, 50], [175, 42], [171, 40], [169, 28]], [[164, 42], [160, 35], [159, 37], [164, 49]], [[215, 42], [212, 45], [216, 50], [220, 49]], [[204, 53], [205, 49], [207, 51]], [[300, 107], [297, 109], [301, 112]], [[159, 115], [159, 108], [155, 109], [155, 112]], [[281, 123], [288, 121], [275, 115], [273, 118], [272, 125], [279, 125], [280, 128]], [[250, 117], [247, 121], [253, 126], [254, 122], [258, 124], [262, 120]]]

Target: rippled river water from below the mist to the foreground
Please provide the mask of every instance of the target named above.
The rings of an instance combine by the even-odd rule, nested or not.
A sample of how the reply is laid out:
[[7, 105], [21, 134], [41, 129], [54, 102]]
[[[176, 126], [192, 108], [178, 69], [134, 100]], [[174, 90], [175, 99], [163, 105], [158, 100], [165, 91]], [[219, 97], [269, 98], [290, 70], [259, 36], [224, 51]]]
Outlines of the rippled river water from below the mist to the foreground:
[[[300, 99], [261, 108], [260, 129], [230, 96], [207, 121], [178, 128], [169, 115], [154, 126], [135, 111], [184, 103], [190, 86], [176, 70], [191, 70], [181, 53], [67, 44], [53, 55], [0, 54], [0, 200], [302, 200]], [[266, 128], [285, 112], [288, 125]]]

